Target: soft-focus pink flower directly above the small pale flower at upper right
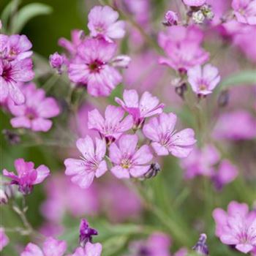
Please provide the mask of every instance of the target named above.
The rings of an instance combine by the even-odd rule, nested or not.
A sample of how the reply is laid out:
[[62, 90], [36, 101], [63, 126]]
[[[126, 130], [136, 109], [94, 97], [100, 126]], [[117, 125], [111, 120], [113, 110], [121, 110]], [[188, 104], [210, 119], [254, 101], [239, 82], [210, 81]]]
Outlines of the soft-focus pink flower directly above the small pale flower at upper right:
[[200, 48], [197, 42], [167, 42], [164, 50], [168, 58], [160, 57], [159, 64], [167, 65], [179, 72], [203, 64], [209, 58], [209, 53]]

